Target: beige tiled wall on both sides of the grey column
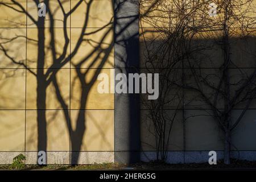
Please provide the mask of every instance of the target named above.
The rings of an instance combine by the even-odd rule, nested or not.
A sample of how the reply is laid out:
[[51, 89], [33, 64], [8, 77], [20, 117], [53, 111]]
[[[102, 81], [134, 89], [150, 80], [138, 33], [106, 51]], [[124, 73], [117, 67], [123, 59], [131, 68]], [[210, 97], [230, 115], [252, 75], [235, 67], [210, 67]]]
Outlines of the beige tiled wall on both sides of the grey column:
[[[48, 164], [115, 162], [118, 101], [97, 91], [97, 76], [110, 77], [115, 65], [114, 2], [44, 1], [46, 17], [39, 18], [32, 0], [0, 0], [0, 164], [19, 154], [36, 164], [38, 151], [47, 151]], [[167, 94], [155, 107], [141, 95], [141, 160], [156, 159], [159, 146], [170, 163], [207, 162], [210, 150], [222, 158], [225, 134], [214, 110], [227, 109], [226, 89], [221, 84], [216, 96], [216, 86], [227, 55], [230, 98], [255, 72], [255, 0], [232, 1], [232, 10], [223, 8], [227, 1], [131, 2], [139, 7], [139, 72], [159, 73], [159, 92]], [[219, 5], [216, 15], [210, 15], [212, 2]], [[242, 93], [253, 95], [248, 90], [255, 88], [255, 77], [252, 82]], [[256, 160], [256, 101], [247, 105], [242, 96], [229, 111], [233, 125], [246, 108], [230, 134], [232, 156]], [[158, 140], [152, 114], [165, 122], [164, 140]]]

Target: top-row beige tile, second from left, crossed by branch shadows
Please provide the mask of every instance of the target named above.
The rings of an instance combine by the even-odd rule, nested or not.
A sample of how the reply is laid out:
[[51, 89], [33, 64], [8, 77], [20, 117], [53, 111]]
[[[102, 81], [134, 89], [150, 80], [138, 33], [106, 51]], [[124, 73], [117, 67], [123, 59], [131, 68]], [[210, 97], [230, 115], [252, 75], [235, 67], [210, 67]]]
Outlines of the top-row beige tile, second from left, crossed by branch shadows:
[[[67, 0], [60, 0], [61, 5], [67, 14], [70, 11], [70, 2]], [[28, 0], [27, 2], [28, 13], [37, 21], [38, 20], [38, 7], [33, 0]], [[53, 19], [54, 26], [53, 27], [70, 27], [70, 16], [67, 19], [67, 24], [64, 26], [64, 14], [61, 10], [61, 6], [59, 2], [56, 0], [49, 0], [49, 7], [46, 7], [47, 11], [50, 9]], [[36, 27], [36, 24], [28, 17], [28, 27]], [[45, 27], [51, 27], [49, 14], [46, 14]]]

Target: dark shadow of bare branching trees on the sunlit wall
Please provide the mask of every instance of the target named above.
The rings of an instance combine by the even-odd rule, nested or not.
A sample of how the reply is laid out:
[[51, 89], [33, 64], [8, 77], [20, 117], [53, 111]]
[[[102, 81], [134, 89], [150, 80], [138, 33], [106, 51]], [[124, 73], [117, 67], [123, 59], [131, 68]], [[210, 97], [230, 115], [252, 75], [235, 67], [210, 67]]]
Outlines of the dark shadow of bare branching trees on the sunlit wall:
[[[47, 118], [46, 111], [48, 109], [47, 100], [49, 98], [49, 92], [47, 90], [53, 86], [55, 89], [55, 97], [57, 102], [59, 102], [61, 112], [63, 112], [64, 115], [63, 122], [65, 122], [65, 126], [70, 134], [72, 152], [71, 163], [77, 164], [79, 163], [79, 152], [81, 151], [84, 135], [88, 130], [86, 128], [86, 105], [90, 104], [88, 103], [88, 96], [89, 93], [92, 92], [92, 86], [96, 83], [98, 74], [101, 73], [109, 59], [113, 56], [112, 51], [115, 41], [113, 24], [114, 21], [117, 22], [117, 20], [114, 20], [113, 15], [114, 13], [117, 13], [119, 8], [122, 8], [122, 3], [114, 5], [113, 1], [109, 1], [108, 6], [112, 7], [112, 12], [109, 14], [112, 14], [112, 16], [104, 17], [104, 21], [102, 22], [102, 19], [98, 19], [92, 15], [93, 11], [96, 11], [95, 6], [93, 6], [97, 4], [96, 0], [72, 1], [72, 7], [69, 7], [71, 3], [67, 0], [57, 0], [55, 2], [42, 1], [45, 3], [47, 8], [46, 17], [39, 17], [37, 13], [35, 14], [35, 10], [38, 11], [38, 5], [40, 2], [41, 1], [38, 0], [32, 1], [30, 6], [33, 6], [34, 10], [31, 10], [31, 7], [26, 7], [19, 1], [11, 0], [10, 3], [0, 1], [0, 7], [4, 6], [16, 13], [27, 16], [27, 24], [25, 24], [27, 26], [27, 30], [36, 30], [36, 33], [34, 31], [33, 34], [27, 33], [27, 35], [14, 35], [11, 38], [1, 35], [2, 42], [0, 43], [0, 50], [3, 52], [6, 59], [11, 61], [11, 63], [25, 68], [36, 78], [35, 109], [37, 112], [36, 123], [38, 128], [37, 150], [48, 150], [47, 130], [49, 119]], [[97, 5], [101, 6], [100, 4]], [[69, 7], [69, 9], [67, 10], [66, 7]], [[71, 16], [75, 16], [75, 13], [79, 12], [81, 9], [84, 16], [81, 17], [80, 20], [82, 26], [75, 27], [80, 31], [75, 42], [75, 39], [71, 36], [71, 32], [69, 32], [70, 30], [73, 30], [69, 27], [72, 24], [70, 19]], [[131, 23], [138, 19], [138, 16], [130, 18], [132, 18], [130, 22], [123, 23], [125, 26], [122, 26], [118, 32], [115, 32], [115, 38], [121, 36], [122, 32], [125, 31]], [[89, 23], [93, 20], [100, 22], [101, 26], [94, 29], [91, 28]], [[10, 22], [15, 22], [15, 19], [10, 20]], [[57, 27], [60, 23], [61, 27]], [[24, 24], [19, 25], [24, 26]], [[118, 23], [116, 23], [115, 26], [118, 26]], [[30, 27], [33, 29], [30, 29]], [[62, 37], [59, 34], [60, 32], [63, 35]], [[15, 44], [15, 41], [18, 39], [26, 40], [28, 45], [37, 49], [36, 51], [38, 55], [35, 57], [28, 55], [27, 60], [19, 60], [18, 55], [11, 55], [10, 45], [11, 43]], [[60, 39], [63, 41], [60, 41]], [[72, 45], [74, 45], [72, 48], [71, 39]], [[5, 44], [10, 45], [6, 47]], [[86, 48], [81, 53], [81, 49], [84, 45], [88, 45], [92, 47], [92, 49]], [[71, 117], [69, 99], [65, 96], [65, 90], [61, 89], [63, 83], [57, 76], [63, 68], [69, 68], [69, 65], [72, 72], [74, 71], [74, 73], [76, 73], [74, 80], [78, 81], [80, 85], [80, 93], [72, 92], [72, 86], [74, 83], [70, 80], [71, 96], [69, 97], [71, 97], [72, 100], [74, 95], [79, 96], [79, 111], [77, 118]], [[85, 65], [88, 66], [85, 67]], [[114, 65], [112, 65], [112, 67], [113, 66]], [[91, 75], [91, 69], [94, 70], [93, 75]], [[56, 116], [52, 118], [56, 118]], [[75, 125], [71, 125], [71, 123], [75, 123]], [[99, 130], [98, 132], [102, 132], [102, 130]], [[101, 136], [104, 136], [104, 134]], [[28, 139], [28, 141], [30, 140], [31, 139]], [[105, 140], [105, 138], [102, 137], [102, 140]]]

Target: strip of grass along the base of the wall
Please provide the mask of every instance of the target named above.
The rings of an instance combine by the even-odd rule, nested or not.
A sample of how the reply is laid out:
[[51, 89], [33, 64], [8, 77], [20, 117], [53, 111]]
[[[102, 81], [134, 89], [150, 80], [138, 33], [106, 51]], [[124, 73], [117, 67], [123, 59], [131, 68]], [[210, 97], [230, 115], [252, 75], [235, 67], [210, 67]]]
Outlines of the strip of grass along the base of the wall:
[[[126, 167], [132, 167], [133, 169], [256, 169], [256, 162], [249, 162], [246, 160], [237, 160], [232, 159], [230, 165], [226, 165], [223, 163], [223, 160], [218, 160], [217, 165], [209, 165], [208, 163], [200, 163], [200, 164], [167, 164], [162, 162], [141, 162], [132, 165], [126, 164], [118, 164], [118, 163], [103, 163], [103, 164], [88, 164], [88, 165], [46, 165], [46, 166], [38, 166], [38, 165], [24, 165], [23, 168], [25, 170], [120, 170], [125, 169]], [[12, 165], [0, 165], [0, 170], [10, 170], [16, 169], [13, 168]]]

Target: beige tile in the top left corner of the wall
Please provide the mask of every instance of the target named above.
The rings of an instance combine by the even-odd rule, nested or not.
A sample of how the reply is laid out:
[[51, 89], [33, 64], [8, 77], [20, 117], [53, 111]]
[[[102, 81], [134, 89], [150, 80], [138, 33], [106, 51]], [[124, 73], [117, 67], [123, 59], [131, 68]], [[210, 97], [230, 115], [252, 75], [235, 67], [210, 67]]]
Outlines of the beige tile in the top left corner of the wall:
[[[26, 10], [26, 0], [16, 2]], [[26, 27], [26, 14], [18, 11], [22, 11], [22, 9], [18, 5], [14, 5], [11, 0], [2, 0], [0, 3], [0, 27]]]

